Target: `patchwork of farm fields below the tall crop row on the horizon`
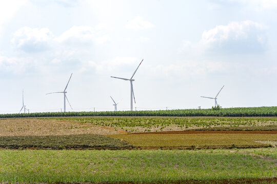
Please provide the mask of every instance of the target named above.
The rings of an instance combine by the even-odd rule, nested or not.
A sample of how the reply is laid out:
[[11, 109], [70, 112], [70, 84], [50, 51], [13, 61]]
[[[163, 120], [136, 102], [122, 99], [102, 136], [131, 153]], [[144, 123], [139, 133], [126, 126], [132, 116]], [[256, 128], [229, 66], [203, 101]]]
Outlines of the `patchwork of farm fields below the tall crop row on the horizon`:
[[0, 183], [276, 183], [276, 127], [276, 117], [0, 119]]

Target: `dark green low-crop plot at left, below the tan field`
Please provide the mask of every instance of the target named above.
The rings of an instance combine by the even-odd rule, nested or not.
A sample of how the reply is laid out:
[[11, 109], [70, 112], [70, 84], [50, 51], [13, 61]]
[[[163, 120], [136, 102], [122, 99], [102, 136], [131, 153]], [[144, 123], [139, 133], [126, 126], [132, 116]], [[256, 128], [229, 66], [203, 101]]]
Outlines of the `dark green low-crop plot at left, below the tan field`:
[[0, 136], [1, 148], [130, 148], [132, 145], [104, 135]]

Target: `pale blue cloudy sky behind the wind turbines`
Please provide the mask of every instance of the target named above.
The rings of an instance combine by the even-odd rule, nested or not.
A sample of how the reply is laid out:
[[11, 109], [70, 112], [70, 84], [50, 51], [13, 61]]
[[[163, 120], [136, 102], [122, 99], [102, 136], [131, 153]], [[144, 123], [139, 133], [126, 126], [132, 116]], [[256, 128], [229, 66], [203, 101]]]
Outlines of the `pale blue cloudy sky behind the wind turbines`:
[[0, 1], [0, 113], [276, 106], [277, 1]]

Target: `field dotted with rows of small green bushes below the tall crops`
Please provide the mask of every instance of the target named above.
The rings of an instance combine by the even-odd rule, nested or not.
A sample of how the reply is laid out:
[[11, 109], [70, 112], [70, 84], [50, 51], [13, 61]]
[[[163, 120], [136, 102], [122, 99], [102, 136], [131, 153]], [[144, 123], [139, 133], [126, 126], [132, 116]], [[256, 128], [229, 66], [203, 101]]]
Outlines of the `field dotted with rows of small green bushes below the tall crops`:
[[180, 131], [203, 128], [277, 130], [277, 117], [63, 117], [50, 119], [89, 123], [127, 132]]

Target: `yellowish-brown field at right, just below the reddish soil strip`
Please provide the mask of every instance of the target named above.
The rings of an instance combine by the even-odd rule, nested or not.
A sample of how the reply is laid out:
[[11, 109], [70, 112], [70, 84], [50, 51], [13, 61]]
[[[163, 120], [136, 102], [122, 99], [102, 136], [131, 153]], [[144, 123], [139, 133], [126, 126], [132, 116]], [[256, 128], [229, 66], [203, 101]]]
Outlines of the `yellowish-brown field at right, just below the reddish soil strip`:
[[[270, 134], [268, 134], [270, 133]], [[135, 133], [109, 135], [137, 147], [151, 148], [247, 148], [277, 145], [277, 131], [268, 132], [218, 132], [203, 131], [180, 133]], [[260, 141], [260, 142], [259, 142]], [[263, 143], [268, 141], [268, 143]], [[269, 143], [272, 141], [272, 144]]]

